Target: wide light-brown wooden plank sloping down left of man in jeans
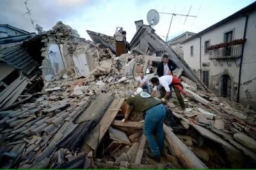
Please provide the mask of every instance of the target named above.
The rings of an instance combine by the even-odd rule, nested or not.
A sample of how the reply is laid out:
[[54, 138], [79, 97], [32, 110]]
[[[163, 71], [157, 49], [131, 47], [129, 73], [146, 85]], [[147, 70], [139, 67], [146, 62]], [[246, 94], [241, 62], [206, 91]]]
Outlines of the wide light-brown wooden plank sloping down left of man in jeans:
[[88, 138], [86, 139], [86, 144], [89, 145], [93, 150], [97, 149], [100, 141], [102, 140], [103, 136], [108, 131], [109, 126], [113, 122], [114, 118], [116, 117], [118, 111], [111, 111], [113, 109], [118, 110], [121, 108], [122, 104], [124, 103], [125, 98], [118, 98], [114, 99], [110, 104], [108, 110], [105, 112], [103, 117], [100, 119], [99, 124], [90, 132]]

